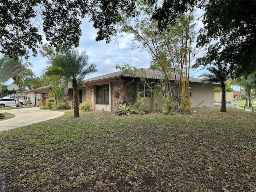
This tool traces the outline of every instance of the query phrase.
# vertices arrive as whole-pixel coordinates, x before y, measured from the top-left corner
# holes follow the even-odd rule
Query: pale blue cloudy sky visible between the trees
[[[202,16],[202,10],[197,10],[197,16]],[[202,19],[199,20],[198,26],[195,28],[195,31],[198,31],[203,27]],[[132,35],[126,34],[118,34],[117,37],[114,37],[112,42],[106,44],[105,40],[96,42],[96,34],[97,30],[93,28],[92,23],[88,22],[87,18],[82,20],[82,36],[80,37],[80,44],[76,48],[80,52],[86,50],[86,54],[88,54],[88,62],[89,64],[96,64],[96,68],[98,72],[88,74],[86,79],[93,78],[96,76],[101,76],[104,74],[109,74],[112,72],[118,71],[116,69],[116,64],[129,64],[130,66],[135,66],[136,68],[149,68],[151,58],[148,52],[140,51],[138,49],[132,49]],[[121,36],[123,35],[123,36]],[[43,36],[43,44],[47,43],[45,37]],[[40,48],[37,49],[38,53]],[[199,53],[200,54],[200,53]],[[0,54],[0,57],[3,55]],[[23,62],[26,62],[23,60]],[[33,64],[31,67],[32,72],[39,77],[43,70],[48,66],[47,59],[43,58],[40,54],[36,57],[32,56],[32,52],[30,52],[30,57],[28,62]],[[192,61],[194,64],[195,61]],[[191,64],[191,65],[192,65]],[[199,78],[200,74],[203,72],[207,72],[206,70],[191,70],[190,76]],[[12,82],[7,82],[7,84],[11,84]],[[236,90],[239,90],[236,87]]]

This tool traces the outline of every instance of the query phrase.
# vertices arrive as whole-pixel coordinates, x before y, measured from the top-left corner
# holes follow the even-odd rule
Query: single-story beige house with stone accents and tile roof
[[[160,71],[150,69],[138,69],[144,72],[144,76],[150,82],[154,89],[160,89],[156,86],[164,75]],[[174,83],[174,79],[171,80]],[[190,86],[190,105],[192,108],[197,106],[214,107],[213,88],[219,87],[219,84],[208,84],[203,86],[198,78],[189,79]],[[86,100],[92,105],[92,110],[113,111],[118,105],[116,93],[125,92],[127,100],[130,103],[135,102],[138,92],[142,92],[142,98],[146,98],[149,104],[146,110],[159,110],[159,105],[155,103],[159,98],[154,97],[148,86],[140,80],[137,75],[127,74],[124,71],[118,71],[84,81],[86,87]],[[176,90],[176,89],[175,89]],[[180,89],[181,92],[181,89]]]

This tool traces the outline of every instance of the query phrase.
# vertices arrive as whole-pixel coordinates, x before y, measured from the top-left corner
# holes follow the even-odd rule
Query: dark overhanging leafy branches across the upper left
[[[65,42],[65,50],[77,47],[82,35],[80,25],[87,16],[94,22],[94,28],[98,29],[96,41],[105,39],[110,42],[117,32],[116,24],[121,20],[120,14],[125,11],[128,16],[134,15],[135,6],[134,0],[115,1],[110,4],[98,0],[1,1],[1,17],[5,18],[1,21],[1,53],[28,59],[29,51],[32,50],[33,56],[36,56],[37,48],[42,44],[42,34],[54,47],[62,42]],[[38,31],[40,24],[43,32]]]

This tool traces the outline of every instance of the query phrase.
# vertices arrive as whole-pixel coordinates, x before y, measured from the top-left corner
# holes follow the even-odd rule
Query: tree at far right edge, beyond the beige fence
[[[250,75],[247,78],[245,78],[244,76],[236,79],[236,80],[231,80],[230,83],[233,85],[238,85],[244,88],[245,90],[245,94],[246,94],[246,101],[245,101],[245,106],[252,106],[252,101],[251,101],[251,90],[252,88],[255,87],[255,82],[256,82],[256,77],[255,75]]]

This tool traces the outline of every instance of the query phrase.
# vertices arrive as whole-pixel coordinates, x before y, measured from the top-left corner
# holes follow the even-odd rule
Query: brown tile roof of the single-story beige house
[[[156,70],[152,70],[152,69],[146,69],[146,68],[139,68],[139,69],[137,69],[137,71],[135,71],[134,74],[129,74],[129,73],[126,73],[124,70],[122,70],[122,71],[118,71],[118,72],[114,72],[114,73],[110,73],[110,74],[90,78],[90,79],[85,80],[84,82],[94,82],[94,81],[100,81],[100,80],[106,80],[106,79],[112,79],[112,78],[118,78],[118,77],[140,78],[141,77],[139,75],[140,73],[142,73],[143,76],[145,76],[148,79],[160,80],[160,79],[164,78],[164,74],[162,74],[162,72],[160,72],[160,71],[156,71]],[[180,80],[180,76],[178,76],[176,78],[177,78],[177,80]],[[172,78],[170,78],[170,80],[174,81],[175,78],[172,77]],[[190,82],[196,82],[196,83],[201,82],[200,79],[193,78],[193,77],[190,77],[189,81]]]

